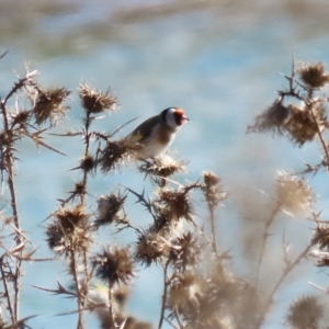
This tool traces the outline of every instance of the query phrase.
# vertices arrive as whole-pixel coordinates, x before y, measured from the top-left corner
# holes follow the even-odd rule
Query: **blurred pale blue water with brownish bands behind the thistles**
[[[72,90],[72,109],[65,127],[79,128],[82,117],[77,97],[79,82],[106,90],[111,87],[121,111],[97,123],[112,132],[138,116],[141,122],[168,106],[185,110],[191,123],[184,126],[172,149],[189,160],[190,174],[197,179],[203,170],[223,178],[229,192],[225,208],[218,213],[218,238],[222,249],[231,249],[234,269],[250,274],[253,237],[260,232],[260,214],[266,214],[268,200],[258,190],[274,193],[277,170],[300,171],[303,161],[318,163],[317,144],[303,148],[270,135],[246,135],[247,125],[275,99],[275,90],[286,81],[292,58],[329,65],[329,4],[327,0],[1,0],[0,94],[8,93],[15,73],[23,75],[24,63],[41,72],[45,87],[65,86]],[[129,133],[135,123],[118,134]],[[43,220],[71,191],[79,174],[77,167],[83,144],[78,139],[49,136],[48,141],[68,157],[60,157],[32,144],[22,145],[18,164],[20,212],[23,227],[38,241],[38,257],[49,256]],[[79,146],[79,147],[77,147]],[[328,177],[310,177],[319,194],[317,211],[327,212]],[[143,178],[129,169],[118,175],[100,175],[91,182],[95,197],[118,185],[141,191]],[[144,209],[129,214],[138,225],[150,218]],[[283,226],[273,227],[274,240],[282,239]],[[284,222],[292,254],[305,248],[314,224],[306,219]],[[113,230],[114,231],[114,230]],[[109,242],[125,243],[128,234],[103,237]],[[272,268],[282,268],[280,243],[270,243],[268,283]],[[42,273],[41,273],[41,269]],[[67,284],[60,262],[31,263],[25,266],[22,317],[33,328],[73,328],[76,315],[54,315],[75,309],[72,300],[52,296],[32,285],[55,288],[56,280]],[[284,328],[284,311],[300,294],[318,294],[309,281],[327,286],[326,273],[319,273],[308,260],[290,275],[284,290],[275,296],[275,308],[264,328]],[[161,270],[140,271],[134,281],[128,311],[154,324],[159,317]],[[276,272],[277,273],[277,272]],[[97,326],[89,319],[91,326]],[[97,327],[93,327],[97,328]],[[170,328],[168,324],[164,328]]]

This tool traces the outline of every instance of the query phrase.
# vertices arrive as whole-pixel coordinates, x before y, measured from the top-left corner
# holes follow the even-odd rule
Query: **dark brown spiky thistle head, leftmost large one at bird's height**
[[[33,107],[35,123],[42,123],[50,120],[52,125],[56,125],[63,117],[69,106],[64,102],[68,99],[70,91],[65,88],[54,88],[46,91],[38,90],[37,98]]]

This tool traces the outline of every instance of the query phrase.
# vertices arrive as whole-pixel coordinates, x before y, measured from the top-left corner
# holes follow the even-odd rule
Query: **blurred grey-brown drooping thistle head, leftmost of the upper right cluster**
[[[288,117],[290,110],[283,105],[283,98],[280,97],[272,106],[256,117],[254,124],[248,126],[247,133],[273,132],[282,134]]]

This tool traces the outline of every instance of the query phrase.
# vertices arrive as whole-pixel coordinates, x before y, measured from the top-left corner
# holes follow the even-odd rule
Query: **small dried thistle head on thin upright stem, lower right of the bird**
[[[214,208],[219,202],[227,197],[227,193],[222,190],[220,178],[211,171],[203,172],[204,185],[202,188],[207,204]]]

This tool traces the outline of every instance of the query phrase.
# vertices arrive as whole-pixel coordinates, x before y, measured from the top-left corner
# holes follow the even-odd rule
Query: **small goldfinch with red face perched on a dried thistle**
[[[143,122],[126,138],[138,144],[138,147],[134,148],[137,159],[156,158],[166,151],[173,141],[177,132],[189,121],[184,110],[168,107]]]

